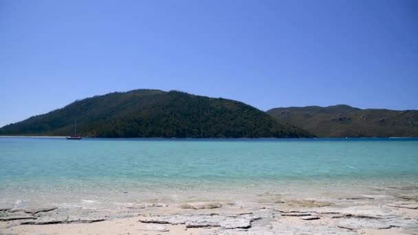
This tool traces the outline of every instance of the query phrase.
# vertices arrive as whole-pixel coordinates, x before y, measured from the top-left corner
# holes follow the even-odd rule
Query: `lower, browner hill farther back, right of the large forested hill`
[[[418,111],[358,109],[348,105],[288,107],[267,111],[318,137],[418,137]]]

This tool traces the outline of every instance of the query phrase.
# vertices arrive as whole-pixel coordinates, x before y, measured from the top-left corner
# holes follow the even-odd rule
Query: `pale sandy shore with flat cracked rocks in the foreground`
[[[418,194],[0,208],[0,234],[418,234]]]

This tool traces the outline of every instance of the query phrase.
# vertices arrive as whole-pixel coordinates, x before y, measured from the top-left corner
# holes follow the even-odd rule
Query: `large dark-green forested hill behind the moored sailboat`
[[[78,100],[0,128],[0,135],[87,137],[311,137],[248,104],[179,91],[134,90]]]

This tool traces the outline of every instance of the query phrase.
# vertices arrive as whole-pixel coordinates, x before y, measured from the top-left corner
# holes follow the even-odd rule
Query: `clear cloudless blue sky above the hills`
[[[418,109],[418,1],[0,1],[0,126],[98,94]]]

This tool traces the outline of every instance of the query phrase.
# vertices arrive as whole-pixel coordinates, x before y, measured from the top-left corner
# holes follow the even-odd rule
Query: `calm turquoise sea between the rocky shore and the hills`
[[[385,197],[418,188],[418,139],[0,137],[0,205]]]

